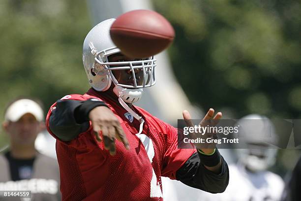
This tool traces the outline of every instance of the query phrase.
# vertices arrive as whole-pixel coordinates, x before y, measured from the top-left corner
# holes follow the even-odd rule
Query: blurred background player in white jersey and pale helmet
[[[240,140],[248,148],[235,150],[238,163],[229,165],[230,180],[226,191],[218,195],[201,193],[199,201],[279,201],[284,182],[279,175],[267,170],[274,165],[277,154],[277,149],[271,145],[277,143],[271,121],[251,114],[237,124],[244,132]],[[264,131],[271,132],[271,137],[265,141],[259,137]]]

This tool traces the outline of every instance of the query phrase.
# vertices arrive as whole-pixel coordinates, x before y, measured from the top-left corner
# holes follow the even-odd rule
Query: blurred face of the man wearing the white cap
[[[42,123],[38,122],[32,114],[27,113],[17,122],[6,122],[3,127],[12,143],[29,145],[34,144],[37,134],[42,129]]]

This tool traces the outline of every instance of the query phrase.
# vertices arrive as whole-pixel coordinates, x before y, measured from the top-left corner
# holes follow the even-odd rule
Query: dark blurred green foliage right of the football
[[[191,101],[233,117],[301,117],[301,3],[155,0],[176,30],[174,72]]]

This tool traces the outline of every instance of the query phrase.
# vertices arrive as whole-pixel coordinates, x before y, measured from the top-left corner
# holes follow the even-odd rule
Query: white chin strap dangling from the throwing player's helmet
[[[143,93],[143,89],[126,89],[120,86],[115,86],[113,91],[118,96],[118,100],[122,107],[140,122],[138,134],[141,134],[143,130],[144,119],[141,116],[139,116],[136,112],[134,112],[134,110],[132,110],[125,102],[133,103],[140,100]]]

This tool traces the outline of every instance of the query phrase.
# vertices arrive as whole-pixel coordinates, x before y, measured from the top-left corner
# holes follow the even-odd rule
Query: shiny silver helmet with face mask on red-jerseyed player
[[[110,27],[115,19],[102,21],[91,29],[84,41],[83,63],[89,84],[96,91],[106,91],[113,82],[119,86],[114,90],[117,96],[125,102],[135,102],[142,96],[142,88],[155,84],[156,60],[153,57],[146,60],[110,62],[108,57],[120,53],[110,37]],[[147,48],[147,47],[146,47]],[[131,83],[119,83],[114,76],[115,70],[131,70]],[[137,83],[135,70],[143,70],[143,80]],[[142,78],[141,78],[142,79]],[[134,97],[132,97],[134,95]]]

